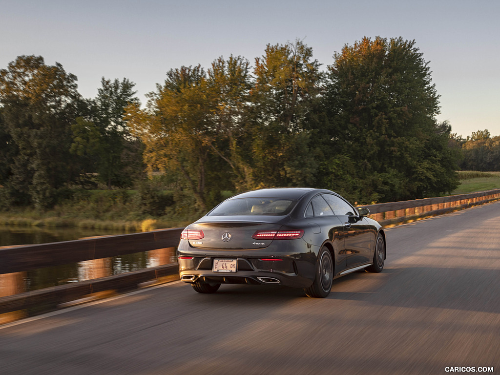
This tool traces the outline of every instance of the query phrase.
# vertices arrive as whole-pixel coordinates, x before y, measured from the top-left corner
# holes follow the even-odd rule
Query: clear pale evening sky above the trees
[[[0,68],[43,56],[78,77],[93,98],[101,77],[125,77],[137,96],[182,65],[218,56],[253,63],[265,46],[302,40],[326,69],[363,36],[415,40],[440,95],[438,121],[470,135],[500,135],[497,0],[0,0]]]

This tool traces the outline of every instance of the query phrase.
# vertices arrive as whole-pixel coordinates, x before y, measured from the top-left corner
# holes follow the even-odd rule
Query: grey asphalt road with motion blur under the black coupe
[[[173,282],[1,326],[0,373],[500,372],[500,202],[386,233],[384,270],[324,299]]]

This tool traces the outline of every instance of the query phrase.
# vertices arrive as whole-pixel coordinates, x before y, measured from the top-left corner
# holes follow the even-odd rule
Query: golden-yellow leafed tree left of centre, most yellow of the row
[[[164,84],[149,93],[146,110],[136,104],[128,107],[128,123],[145,145],[149,173],[179,175],[205,210],[206,186],[217,186],[207,181],[215,130],[206,73],[200,65],[182,66],[166,76]]]

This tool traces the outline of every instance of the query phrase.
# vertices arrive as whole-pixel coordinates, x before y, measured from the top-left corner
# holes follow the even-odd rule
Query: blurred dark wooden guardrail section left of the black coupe
[[[0,248],[0,324],[53,310],[81,298],[88,300],[133,289],[150,280],[178,278],[177,264],[168,258],[174,254],[182,229]],[[25,271],[30,269],[86,260],[98,263],[111,256],[151,250],[159,251],[162,265],[105,277],[99,277],[100,272],[96,272],[97,276],[93,277],[98,278],[38,290],[24,291],[19,286],[23,285]]]

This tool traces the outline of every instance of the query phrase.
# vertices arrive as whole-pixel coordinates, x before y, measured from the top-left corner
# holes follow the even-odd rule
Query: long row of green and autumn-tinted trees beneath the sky
[[[0,208],[116,187],[174,191],[179,211],[271,186],[395,201],[453,190],[459,163],[498,169],[499,137],[436,122],[414,40],[364,37],[320,65],[300,40],[268,44],[253,63],[170,69],[141,106],[127,78],[85,99],[59,63],[18,56],[0,70]]]

